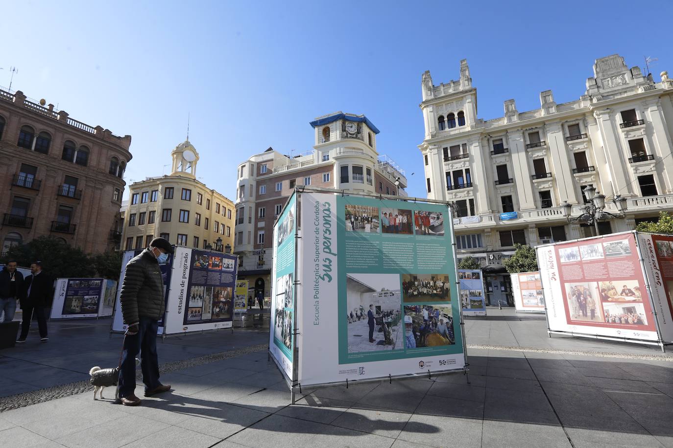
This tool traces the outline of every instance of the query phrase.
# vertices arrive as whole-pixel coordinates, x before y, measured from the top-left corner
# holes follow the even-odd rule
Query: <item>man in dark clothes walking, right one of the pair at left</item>
[[[49,338],[46,335],[46,313],[51,306],[51,300],[54,296],[52,280],[42,272],[42,261],[36,261],[30,265],[31,275],[26,277],[19,302],[24,311],[24,318],[21,324],[21,335],[16,340],[17,343],[26,342],[28,330],[30,330],[30,321],[33,315],[38,320],[40,328],[40,341],[46,343]]]

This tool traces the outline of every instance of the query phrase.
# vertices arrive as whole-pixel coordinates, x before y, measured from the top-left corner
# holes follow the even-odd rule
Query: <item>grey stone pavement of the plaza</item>
[[[488,312],[466,320],[468,344],[500,347],[468,348],[470,384],[455,374],[305,388],[290,405],[281,374],[262,350],[165,373],[172,392],[138,408],[112,404],[110,388],[108,400],[94,401],[89,390],[1,412],[0,446],[673,447],[673,357],[656,348],[549,339],[544,316]],[[265,336],[248,332],[168,338],[159,345],[160,361]],[[22,349],[40,365],[41,351],[53,355],[52,348],[46,353],[52,343],[64,345],[71,361],[77,358],[71,346],[84,344],[83,367],[103,356],[88,337],[67,344],[60,337]],[[0,381],[17,379],[11,367],[17,350],[9,361],[0,358]]]

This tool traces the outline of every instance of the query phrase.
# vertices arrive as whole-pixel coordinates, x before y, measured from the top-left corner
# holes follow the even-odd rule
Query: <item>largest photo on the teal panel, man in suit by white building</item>
[[[404,349],[399,288],[398,274],[346,274],[348,353]]]

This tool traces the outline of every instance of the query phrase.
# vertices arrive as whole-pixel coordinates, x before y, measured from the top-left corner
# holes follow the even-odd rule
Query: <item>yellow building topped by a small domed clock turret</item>
[[[121,249],[143,249],[162,237],[178,246],[232,251],[234,202],[197,180],[199,153],[188,140],[171,156],[170,175],[130,185]]]

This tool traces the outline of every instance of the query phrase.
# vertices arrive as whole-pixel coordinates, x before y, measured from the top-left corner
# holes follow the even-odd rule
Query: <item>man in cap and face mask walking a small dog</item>
[[[139,405],[135,396],[135,357],[141,352],[145,396],[170,390],[159,382],[157,327],[164,317],[164,279],[160,264],[168,261],[173,248],[164,238],[154,238],[149,247],[131,259],[126,267],[120,302],[128,325],[119,371],[119,398],[126,406]]]

